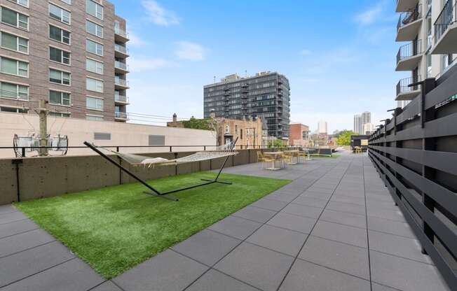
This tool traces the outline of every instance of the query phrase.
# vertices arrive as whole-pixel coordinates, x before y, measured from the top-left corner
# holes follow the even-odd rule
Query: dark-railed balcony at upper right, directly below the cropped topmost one
[[[397,23],[397,38],[395,41],[414,41],[422,24],[422,6],[402,13]]]

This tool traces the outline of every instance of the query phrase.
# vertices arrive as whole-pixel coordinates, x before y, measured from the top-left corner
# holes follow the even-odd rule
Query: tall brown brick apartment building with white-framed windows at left
[[[0,0],[0,111],[127,120],[125,20],[104,0]]]

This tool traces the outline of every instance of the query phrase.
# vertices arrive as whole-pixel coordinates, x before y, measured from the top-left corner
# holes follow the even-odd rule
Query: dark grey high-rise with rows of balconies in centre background
[[[233,74],[219,83],[205,85],[203,110],[205,118],[212,110],[216,117],[262,118],[268,136],[288,139],[289,96],[289,80],[280,73],[266,71],[246,78]]]

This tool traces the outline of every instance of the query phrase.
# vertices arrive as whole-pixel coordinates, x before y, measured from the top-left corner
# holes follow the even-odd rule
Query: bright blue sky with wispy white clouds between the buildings
[[[311,130],[353,129],[363,111],[378,125],[396,107],[395,1],[111,2],[130,34],[128,112],[201,118],[214,76],[258,71],[289,79],[291,122]]]

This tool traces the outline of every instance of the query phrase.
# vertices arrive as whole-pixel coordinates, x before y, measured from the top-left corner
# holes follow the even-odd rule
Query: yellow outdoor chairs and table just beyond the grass
[[[257,159],[262,164],[262,169],[276,171],[284,169],[287,164],[299,164],[300,159],[311,160],[309,150],[280,150],[270,152],[257,152]]]

